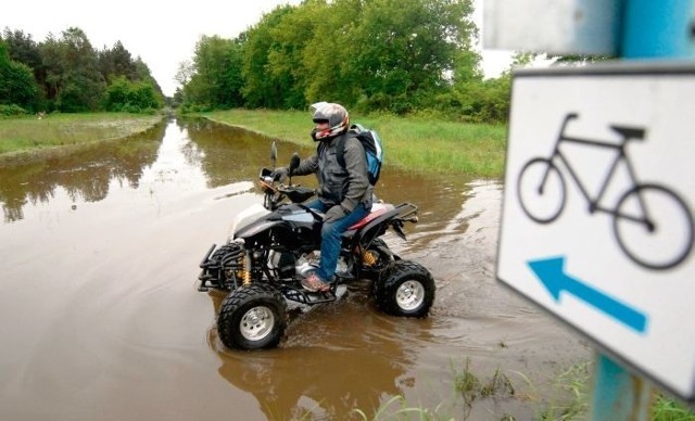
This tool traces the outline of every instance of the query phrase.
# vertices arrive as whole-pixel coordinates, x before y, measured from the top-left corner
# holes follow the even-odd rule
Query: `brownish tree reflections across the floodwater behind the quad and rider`
[[[153,129],[115,142],[102,142],[30,163],[0,167],[0,203],[4,224],[25,217],[27,206],[48,203],[63,191],[70,203],[98,202],[110,190],[167,182],[178,188],[203,183],[206,188],[253,179],[270,165],[271,140],[247,130],[208,120],[163,122]],[[293,152],[303,157],[312,148],[279,143],[278,165]],[[176,180],[175,180],[176,179]],[[173,182],[174,181],[174,182]],[[295,182],[315,186],[313,176]],[[376,189],[379,197],[393,203],[416,202],[425,225],[446,220],[460,209],[462,187],[469,180],[422,177],[388,165]],[[152,187],[148,187],[152,190]]]

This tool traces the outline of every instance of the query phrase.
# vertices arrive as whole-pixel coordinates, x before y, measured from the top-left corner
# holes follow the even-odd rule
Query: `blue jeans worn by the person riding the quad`
[[[315,200],[306,204],[307,207],[326,213],[328,207],[320,200]],[[355,222],[367,216],[369,212],[365,205],[359,203],[355,208],[343,218],[336,219],[321,227],[321,259],[316,275],[324,281],[331,281],[338,266],[338,256],[340,256],[340,245],[343,232]]]

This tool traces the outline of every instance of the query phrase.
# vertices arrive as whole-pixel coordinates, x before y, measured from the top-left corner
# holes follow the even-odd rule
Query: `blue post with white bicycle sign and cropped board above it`
[[[488,48],[627,59],[514,73],[497,278],[596,343],[593,419],[695,399],[695,0],[486,1]]]

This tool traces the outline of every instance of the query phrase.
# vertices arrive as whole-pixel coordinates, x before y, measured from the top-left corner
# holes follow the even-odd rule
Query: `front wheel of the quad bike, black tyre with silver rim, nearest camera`
[[[273,348],[285,333],[286,312],[287,303],[276,289],[263,284],[241,286],[223,301],[217,334],[229,348]]]

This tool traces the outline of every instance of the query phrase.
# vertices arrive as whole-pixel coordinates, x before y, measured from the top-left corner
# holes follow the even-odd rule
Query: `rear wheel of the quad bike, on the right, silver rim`
[[[434,279],[424,266],[395,260],[375,293],[377,306],[386,314],[425,317],[434,302]]]

